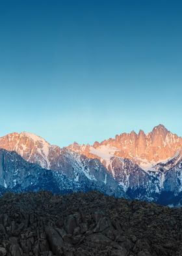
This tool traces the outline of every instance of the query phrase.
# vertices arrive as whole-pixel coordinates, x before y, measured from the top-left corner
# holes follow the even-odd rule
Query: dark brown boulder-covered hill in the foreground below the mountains
[[[182,210],[98,192],[0,199],[0,256],[179,256]]]

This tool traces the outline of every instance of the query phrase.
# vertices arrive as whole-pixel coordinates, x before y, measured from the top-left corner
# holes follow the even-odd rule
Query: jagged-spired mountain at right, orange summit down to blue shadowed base
[[[154,127],[147,135],[140,130],[138,135],[123,133],[101,143],[95,142],[93,146],[75,142],[69,148],[87,157],[98,158],[131,198],[167,203],[161,195],[169,191],[169,184],[173,184],[170,193],[175,190],[175,195],[182,189],[179,175],[182,138],[170,133],[163,125]],[[178,175],[172,176],[169,183],[168,177],[174,170],[178,170]]]

